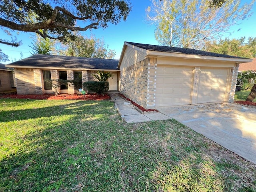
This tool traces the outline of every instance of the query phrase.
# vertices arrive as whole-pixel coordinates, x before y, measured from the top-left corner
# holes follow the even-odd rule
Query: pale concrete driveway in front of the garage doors
[[[157,110],[256,164],[255,108],[227,103]]]

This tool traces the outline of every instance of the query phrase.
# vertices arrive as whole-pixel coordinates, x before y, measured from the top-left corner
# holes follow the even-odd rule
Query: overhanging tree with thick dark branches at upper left
[[[126,20],[130,10],[129,0],[1,0],[0,26],[2,30],[33,32],[43,38],[65,40],[72,31],[118,24]],[[0,39],[0,43],[19,46],[15,41]]]

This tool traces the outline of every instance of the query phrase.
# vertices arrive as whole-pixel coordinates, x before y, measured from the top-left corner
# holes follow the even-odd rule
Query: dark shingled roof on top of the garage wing
[[[142,49],[149,50],[149,51],[242,59],[242,57],[212,53],[212,52],[207,52],[207,51],[200,51],[200,50],[196,50],[196,49],[177,48],[177,47],[168,47],[168,46],[159,46],[159,45],[148,45],[148,44],[140,44],[140,43],[132,43],[132,42],[126,42],[126,43],[134,45],[134,46],[142,48]],[[245,58],[243,58],[243,59],[245,59]]]

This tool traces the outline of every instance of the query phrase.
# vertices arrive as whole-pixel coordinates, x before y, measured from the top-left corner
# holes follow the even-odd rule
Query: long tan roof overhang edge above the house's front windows
[[[86,71],[120,71],[120,69],[91,69],[91,68],[64,68],[64,67],[35,67],[35,66],[19,66],[19,65],[9,65],[12,68],[29,68],[29,69],[56,69],[56,70],[86,70]]]

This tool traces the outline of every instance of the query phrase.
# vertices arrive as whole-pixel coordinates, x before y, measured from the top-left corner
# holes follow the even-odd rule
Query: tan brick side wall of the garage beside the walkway
[[[134,65],[122,68],[120,93],[146,109],[155,105],[156,58],[146,58]]]

